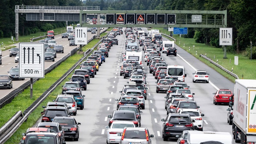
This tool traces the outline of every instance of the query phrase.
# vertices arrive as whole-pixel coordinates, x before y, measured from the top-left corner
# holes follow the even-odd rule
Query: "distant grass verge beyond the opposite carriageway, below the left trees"
[[[55,32],[55,34],[57,35],[58,33],[62,33],[64,32],[66,27],[63,27],[63,28],[56,28],[56,29],[53,29],[53,31]],[[3,45],[1,45],[1,50],[4,51],[6,49],[9,49],[9,48],[12,48],[12,47],[15,47],[13,44],[14,43],[19,43],[19,42],[30,42],[30,39],[33,39],[33,37],[39,37],[39,36],[43,36],[43,35],[46,35],[47,32],[37,32],[37,33],[33,33],[31,35],[27,35],[27,36],[19,36],[19,41],[15,41],[15,36],[13,36],[13,40],[11,39],[11,37],[7,37],[7,38],[2,38],[0,39],[0,43]],[[44,39],[44,38],[43,38]],[[39,39],[37,39],[39,40]],[[4,48],[5,46],[5,48]]]

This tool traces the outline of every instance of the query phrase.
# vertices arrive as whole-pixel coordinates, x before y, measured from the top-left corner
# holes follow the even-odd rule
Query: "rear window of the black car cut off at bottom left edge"
[[[28,144],[55,144],[56,143],[54,136],[45,136],[45,135],[28,136],[26,137],[26,141]]]

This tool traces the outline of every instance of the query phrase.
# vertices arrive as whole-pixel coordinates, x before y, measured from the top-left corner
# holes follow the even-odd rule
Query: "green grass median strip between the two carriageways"
[[[99,40],[95,39],[90,41],[88,45],[83,47],[83,50],[86,51],[89,48],[92,48]],[[92,46],[91,46],[92,45]],[[56,80],[58,80],[65,72],[68,71],[72,65],[76,63],[83,55],[73,55],[61,63],[57,68],[52,72],[45,75],[44,79],[40,79],[33,84],[33,99],[30,99],[30,89],[25,89],[24,92],[19,94],[12,100],[12,103],[5,105],[0,109],[0,127],[3,126],[18,110],[24,111],[29,105],[33,103],[39,96],[42,95]],[[79,66],[77,67],[79,68]],[[21,125],[19,129],[8,139],[5,144],[14,144],[19,143],[21,140],[21,133],[24,133],[29,127],[32,127],[36,121],[41,117],[40,112],[43,111],[42,106],[47,105],[48,101],[56,99],[56,96],[61,93],[62,85],[65,84],[65,81],[69,81],[70,74],[56,89],[31,113],[27,121]]]

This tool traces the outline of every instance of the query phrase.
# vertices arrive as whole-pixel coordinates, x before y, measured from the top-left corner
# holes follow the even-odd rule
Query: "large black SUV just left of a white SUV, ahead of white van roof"
[[[163,123],[163,139],[167,141],[168,138],[177,138],[183,131],[194,130],[194,125],[188,114],[169,113],[165,119],[161,119]]]

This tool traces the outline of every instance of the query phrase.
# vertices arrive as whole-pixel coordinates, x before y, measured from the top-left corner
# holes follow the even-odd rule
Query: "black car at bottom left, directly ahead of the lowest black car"
[[[62,130],[59,123],[48,123],[48,122],[42,123],[41,122],[41,123],[38,123],[36,127],[51,129],[52,133],[57,133],[57,135],[59,136],[60,144],[66,144],[65,137],[64,137],[65,134],[64,134],[64,131]],[[46,133],[43,133],[43,134],[46,134]],[[26,139],[28,139],[28,136],[26,137]],[[32,144],[32,143],[29,143],[29,144]],[[33,144],[36,144],[36,143],[33,143]],[[53,143],[53,144],[55,144],[55,143]]]

